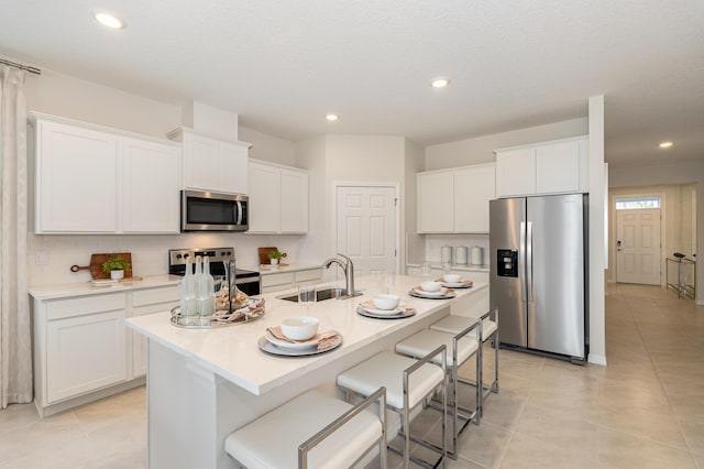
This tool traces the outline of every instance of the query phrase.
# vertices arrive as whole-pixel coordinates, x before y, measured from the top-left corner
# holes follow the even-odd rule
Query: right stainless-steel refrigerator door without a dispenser
[[[585,355],[583,197],[527,199],[528,347],[575,358]]]

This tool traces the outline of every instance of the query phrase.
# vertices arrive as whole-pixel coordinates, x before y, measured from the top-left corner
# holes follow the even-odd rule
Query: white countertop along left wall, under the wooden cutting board
[[[157,286],[177,285],[180,277],[177,275],[145,276],[142,280],[114,282],[94,285],[91,282],[66,283],[62,285],[32,286],[30,295],[35,299],[56,299],[70,296],[97,295],[111,292],[125,292],[131,290],[153,288]]]

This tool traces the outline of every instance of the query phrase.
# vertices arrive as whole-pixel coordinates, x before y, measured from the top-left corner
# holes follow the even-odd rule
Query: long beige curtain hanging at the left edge
[[[0,408],[32,401],[24,72],[0,65]]]

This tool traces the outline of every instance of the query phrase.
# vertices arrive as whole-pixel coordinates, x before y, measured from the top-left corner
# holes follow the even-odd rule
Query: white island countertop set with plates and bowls
[[[249,324],[216,329],[186,329],[173,326],[168,312],[129,318],[127,324],[151,340],[194,360],[207,371],[217,373],[255,395],[261,395],[300,379],[306,372],[324,367],[330,360],[348,357],[375,340],[422,320],[453,301],[409,296],[408,291],[422,280],[427,277],[396,275],[386,280],[389,293],[398,293],[402,304],[417,309],[415,316],[406,319],[373,319],[356,313],[356,306],[361,302],[381,293],[381,287],[369,277],[355,279],[356,287],[364,290],[363,296],[342,301],[328,299],[311,305],[309,313],[320,319],[320,330],[336,329],[343,338],[340,348],[311,357],[272,356],[261,351],[257,346],[266,327],[278,326],[286,317],[306,314],[305,306],[277,298],[292,292],[263,295],[266,301],[266,314]],[[319,287],[324,286],[328,285]],[[475,283],[471,288],[458,288],[457,297],[472,295],[487,287],[488,284]]]

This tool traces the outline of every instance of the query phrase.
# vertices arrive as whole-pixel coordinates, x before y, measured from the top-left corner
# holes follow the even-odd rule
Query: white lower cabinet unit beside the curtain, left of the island
[[[168,310],[178,286],[33,302],[34,394],[51,415],[139,385],[146,339],[127,330],[130,316]]]

